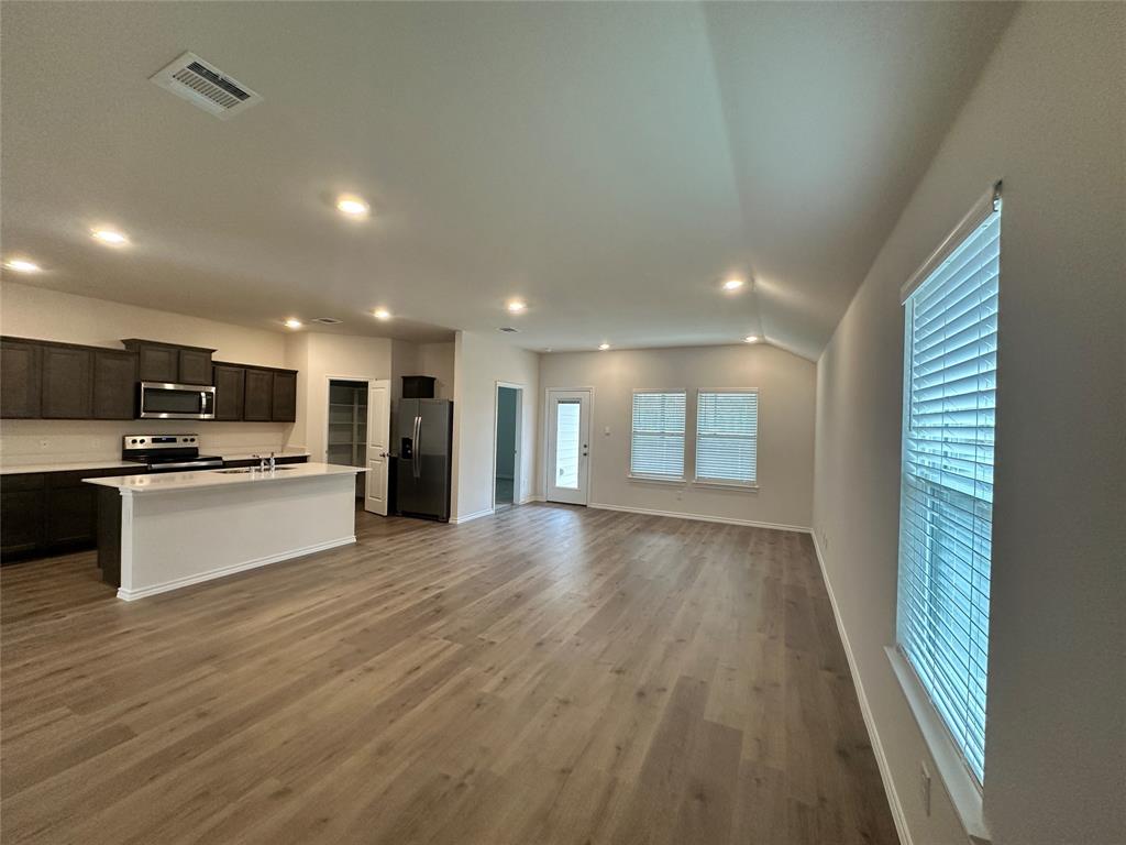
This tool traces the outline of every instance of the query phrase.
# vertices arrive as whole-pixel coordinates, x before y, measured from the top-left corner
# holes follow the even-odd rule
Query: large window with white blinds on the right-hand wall
[[[973,213],[972,213],[973,214]],[[904,302],[897,639],[984,777],[1000,196]]]

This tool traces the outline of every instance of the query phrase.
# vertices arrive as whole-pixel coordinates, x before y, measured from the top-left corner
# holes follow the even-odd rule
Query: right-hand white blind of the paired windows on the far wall
[[[758,481],[759,394],[704,392],[696,401],[696,479],[732,484]]]

